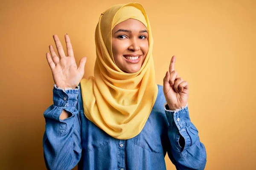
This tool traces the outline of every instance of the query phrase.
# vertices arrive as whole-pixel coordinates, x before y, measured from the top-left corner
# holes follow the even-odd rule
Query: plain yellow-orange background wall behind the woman
[[[53,34],[69,34],[77,64],[93,75],[100,14],[127,0],[0,2],[0,162],[3,170],[44,170],[44,111],[52,105],[46,60]],[[189,114],[207,150],[206,170],[256,169],[256,1],[138,0],[154,38],[156,81],[170,59],[189,83]],[[175,167],[166,156],[168,170]]]

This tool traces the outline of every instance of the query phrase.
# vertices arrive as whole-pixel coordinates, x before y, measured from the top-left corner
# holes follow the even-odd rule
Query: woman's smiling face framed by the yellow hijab
[[[112,52],[116,65],[126,73],[140,70],[148,53],[148,30],[143,23],[128,19],[112,30]]]

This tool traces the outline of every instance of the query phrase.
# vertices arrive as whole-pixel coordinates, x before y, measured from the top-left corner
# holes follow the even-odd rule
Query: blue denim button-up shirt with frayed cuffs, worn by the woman
[[[165,108],[163,86],[143,130],[134,138],[115,139],[84,116],[80,84],[53,88],[53,105],[44,112],[44,160],[49,170],[166,170],[165,156],[177,170],[203,170],[206,150],[189,118],[188,107]],[[168,105],[166,105],[168,107]],[[59,119],[62,110],[70,113]]]

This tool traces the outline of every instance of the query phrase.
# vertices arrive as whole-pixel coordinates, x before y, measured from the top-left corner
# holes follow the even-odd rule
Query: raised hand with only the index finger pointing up
[[[174,70],[176,57],[172,56],[169,71],[163,79],[163,93],[170,110],[182,108],[188,102],[188,82],[178,76]]]

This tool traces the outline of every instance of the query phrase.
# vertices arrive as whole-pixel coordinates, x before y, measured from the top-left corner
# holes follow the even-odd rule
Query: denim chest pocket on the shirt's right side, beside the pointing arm
[[[157,119],[148,117],[143,130],[134,137],[134,144],[143,147],[145,150],[151,153],[163,153],[163,146],[160,138],[160,128],[157,128]]]

